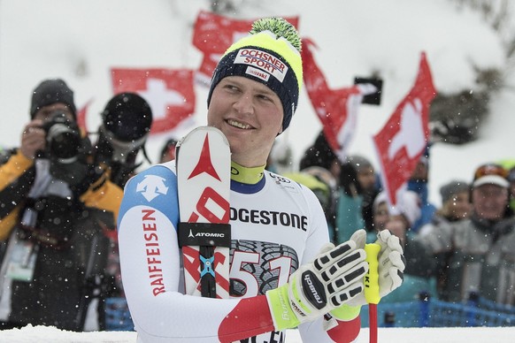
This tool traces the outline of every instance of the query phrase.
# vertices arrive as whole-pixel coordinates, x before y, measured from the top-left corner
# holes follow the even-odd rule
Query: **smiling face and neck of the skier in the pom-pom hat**
[[[228,76],[213,89],[208,126],[227,136],[231,159],[245,167],[266,164],[282,132],[281,99],[272,89],[242,76]]]

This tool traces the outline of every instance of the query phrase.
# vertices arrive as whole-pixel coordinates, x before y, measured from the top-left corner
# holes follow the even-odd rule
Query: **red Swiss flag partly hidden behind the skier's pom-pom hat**
[[[298,17],[284,19],[294,27],[298,26]],[[230,19],[208,11],[198,13],[193,31],[193,45],[204,53],[202,65],[197,71],[200,80],[209,83],[220,57],[233,42],[249,34],[255,20]]]

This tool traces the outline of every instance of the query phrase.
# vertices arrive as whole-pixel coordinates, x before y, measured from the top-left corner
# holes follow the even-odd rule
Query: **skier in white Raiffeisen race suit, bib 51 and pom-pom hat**
[[[234,171],[232,209],[222,213],[231,225],[231,299],[183,294],[182,264],[191,261],[181,263],[178,232],[185,226],[179,223],[188,218],[180,218],[174,161],[127,182],[119,215],[120,262],[140,342],[283,341],[283,331],[296,327],[304,341],[356,339],[357,316],[366,303],[365,231],[334,248],[316,196],[265,171],[273,141],[296,110],[303,80],[300,48],[286,20],[259,19],[213,72],[207,123],[225,133]],[[146,198],[143,182],[162,187]],[[385,295],[400,286],[404,263],[396,237],[384,232],[377,242],[386,263],[379,266]]]

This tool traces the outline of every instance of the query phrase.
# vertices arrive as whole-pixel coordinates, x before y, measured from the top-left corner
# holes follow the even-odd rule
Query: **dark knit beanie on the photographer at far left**
[[[77,110],[73,102],[73,90],[61,79],[43,80],[34,89],[30,104],[30,118],[34,118],[35,113],[42,107],[54,103],[64,103],[72,112],[73,118],[77,118]]]

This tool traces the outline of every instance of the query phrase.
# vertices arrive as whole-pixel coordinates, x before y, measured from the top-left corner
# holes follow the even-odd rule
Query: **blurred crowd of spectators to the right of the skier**
[[[382,192],[370,159],[350,155],[339,161],[323,133],[305,151],[299,169],[327,168],[338,181],[336,210],[328,213],[334,243],[361,228],[369,242],[381,230],[402,241],[404,284],[385,301],[419,299],[424,293],[457,303],[480,296],[515,305],[515,162],[484,161],[463,179],[448,180],[440,187],[442,204],[435,206],[428,201],[429,150],[395,206]]]

